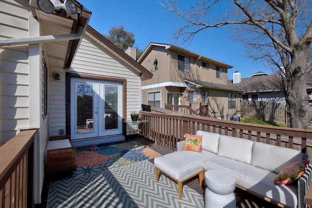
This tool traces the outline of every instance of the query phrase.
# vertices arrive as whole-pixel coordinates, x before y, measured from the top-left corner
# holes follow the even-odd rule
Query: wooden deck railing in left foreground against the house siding
[[[33,206],[34,135],[21,131],[0,147],[0,208]]]

